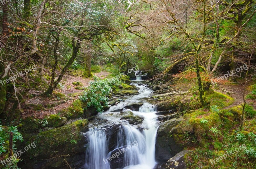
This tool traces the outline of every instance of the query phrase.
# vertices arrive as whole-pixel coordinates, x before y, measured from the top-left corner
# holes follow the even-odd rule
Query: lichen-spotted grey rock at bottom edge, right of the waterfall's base
[[[188,153],[190,153],[191,150],[183,150],[180,151],[179,153],[177,153],[175,156],[173,156],[172,158],[170,158],[166,165],[165,168],[166,169],[183,169],[183,168],[187,168],[186,163],[185,163],[185,159],[184,156]]]

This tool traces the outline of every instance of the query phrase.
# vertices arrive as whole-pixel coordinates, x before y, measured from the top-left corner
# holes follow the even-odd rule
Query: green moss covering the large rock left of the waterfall
[[[49,154],[54,155],[54,151],[58,151],[61,147],[66,147],[66,149],[72,148],[71,141],[79,140],[79,131],[84,126],[88,125],[88,123],[87,119],[78,120],[74,123],[44,131],[31,137],[29,143],[35,142],[36,148],[29,149],[28,156],[36,158],[38,156],[43,157],[44,155]],[[63,152],[63,154],[65,153]]]

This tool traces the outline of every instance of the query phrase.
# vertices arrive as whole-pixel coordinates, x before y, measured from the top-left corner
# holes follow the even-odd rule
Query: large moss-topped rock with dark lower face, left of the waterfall
[[[82,168],[86,151],[84,145],[88,140],[80,132],[88,131],[88,123],[87,119],[77,120],[34,135],[27,144],[34,142],[36,148],[29,149],[21,156],[20,168],[63,168],[65,160],[72,168]],[[65,156],[67,154],[70,156]]]

